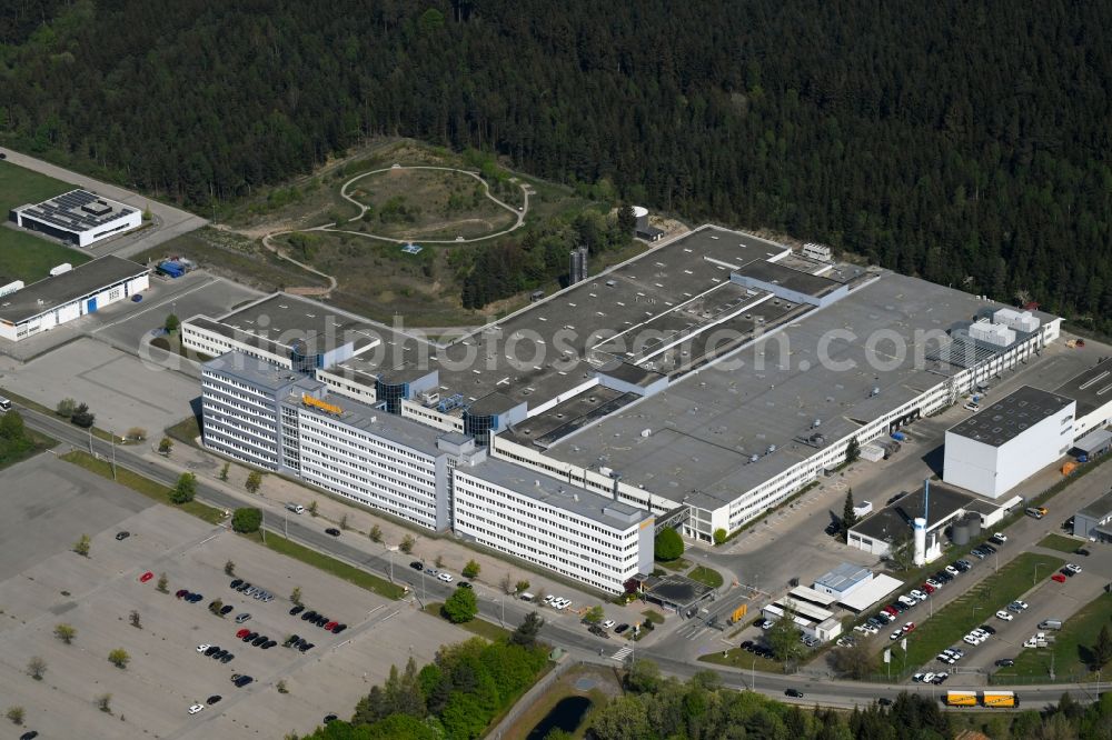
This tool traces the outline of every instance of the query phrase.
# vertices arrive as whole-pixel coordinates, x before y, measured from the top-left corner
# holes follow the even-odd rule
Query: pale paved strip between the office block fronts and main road
[[[614,619],[618,622],[634,622],[641,621],[641,612],[646,608],[641,602],[634,602],[626,607],[609,603],[607,600],[568,587],[555,579],[539,576],[534,571],[526,570],[492,554],[473,550],[456,541],[450,533],[439,537],[423,534],[416,528],[409,529],[386,517],[377,517],[358,504],[348,506],[330,496],[318,493],[281,476],[264,474],[259,492],[257,494],[248,493],[245,489],[245,483],[248,473],[252,469],[188,444],[176,443],[169,460],[149,448],[143,450],[142,454],[156,464],[172,468],[177,471],[186,469],[197,474],[206,484],[219,488],[230,496],[241,499],[245,506],[261,508],[266,523],[271,531],[281,531],[281,518],[298,516],[286,510],[285,504],[287,502],[299,503],[306,509],[316,502],[318,516],[312,518],[307,511],[300,514],[301,523],[304,524],[307,523],[307,520],[311,521],[315,519],[319,522],[321,531],[334,526],[344,529],[341,522],[345,522],[346,518],[344,542],[368,554],[384,556],[390,548],[397,548],[406,534],[411,536],[416,540],[413,552],[408,556],[400,551],[395,551],[394,553],[395,581],[409,582],[413,580],[413,577],[416,574],[409,568],[409,562],[413,560],[420,560],[427,567],[437,568],[435,563],[440,558],[444,566],[438,569],[450,572],[457,579],[461,578],[460,571],[467,561],[475,560],[479,564],[479,576],[473,580],[479,586],[476,589],[476,593],[480,599],[485,597],[495,602],[502,598],[512,599],[513,597],[508,597],[502,588],[502,582],[508,574],[510,590],[514,589],[518,580],[527,580],[529,582],[528,590],[532,593],[543,591],[544,593],[560,594],[575,602],[573,607],[576,611],[565,610],[564,612],[557,612],[540,607],[540,611],[546,620],[556,619],[567,621],[568,624],[572,624],[578,621],[578,610],[586,610],[596,603],[602,603],[608,619]],[[228,480],[221,481],[220,471],[226,462],[229,463]],[[383,533],[381,542],[373,541],[369,536],[371,528],[376,524]],[[418,578],[418,587],[419,580]]]

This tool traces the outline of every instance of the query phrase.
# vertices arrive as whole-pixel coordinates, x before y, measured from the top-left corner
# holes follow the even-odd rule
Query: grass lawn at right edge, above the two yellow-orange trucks
[[[1025,676],[1050,680],[1051,657],[1058,680],[1074,680],[1089,674],[1090,649],[1096,642],[1101,627],[1112,617],[1112,593],[1102,593],[1086,603],[1073,617],[1062,622],[1062,629],[1052,632],[1054,642],[1048,648],[1029,648],[1015,658],[1014,668],[1004,668],[996,677]],[[1112,624],[1110,624],[1112,628]]]

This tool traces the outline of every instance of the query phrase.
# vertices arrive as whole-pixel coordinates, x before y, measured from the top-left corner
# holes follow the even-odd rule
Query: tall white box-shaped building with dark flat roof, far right
[[[946,431],[943,480],[997,499],[1073,447],[1073,399],[1024,386]]]

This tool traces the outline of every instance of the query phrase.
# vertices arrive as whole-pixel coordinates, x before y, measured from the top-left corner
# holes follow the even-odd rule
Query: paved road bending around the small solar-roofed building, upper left
[[[132,208],[150,210],[155,221],[153,227],[93,244],[89,251],[95,252],[97,257],[103,254],[116,254],[118,257],[138,254],[143,250],[157,247],[162,242],[169,241],[175,237],[180,237],[183,233],[189,233],[208,223],[208,221],[199,216],[172,206],[167,206],[166,203],[160,203],[147,196],[125,190],[119,186],[95,180],[80,172],[67,170],[57,164],[36,159],[34,157],[28,157],[12,149],[4,149],[3,151],[8,156],[8,161],[12,164],[18,164],[19,167],[40,172],[63,182],[72,182],[75,186],[92,190],[112,200],[127,203]]]

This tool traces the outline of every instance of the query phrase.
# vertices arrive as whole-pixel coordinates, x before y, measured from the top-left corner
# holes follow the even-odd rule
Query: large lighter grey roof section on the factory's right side
[[[765,334],[736,356],[741,364],[731,358],[688,374],[548,454],[608,467],[624,482],[672,500],[687,497],[705,508],[734,501],[820,451],[804,438],[821,431],[841,439],[955,372],[943,362],[917,362],[912,348],[922,332],[935,333],[921,351],[949,341],[945,331],[967,323],[985,302],[916,278],[873,274],[836,303]],[[888,340],[866,347],[882,331],[900,337],[907,354],[894,354]]]

